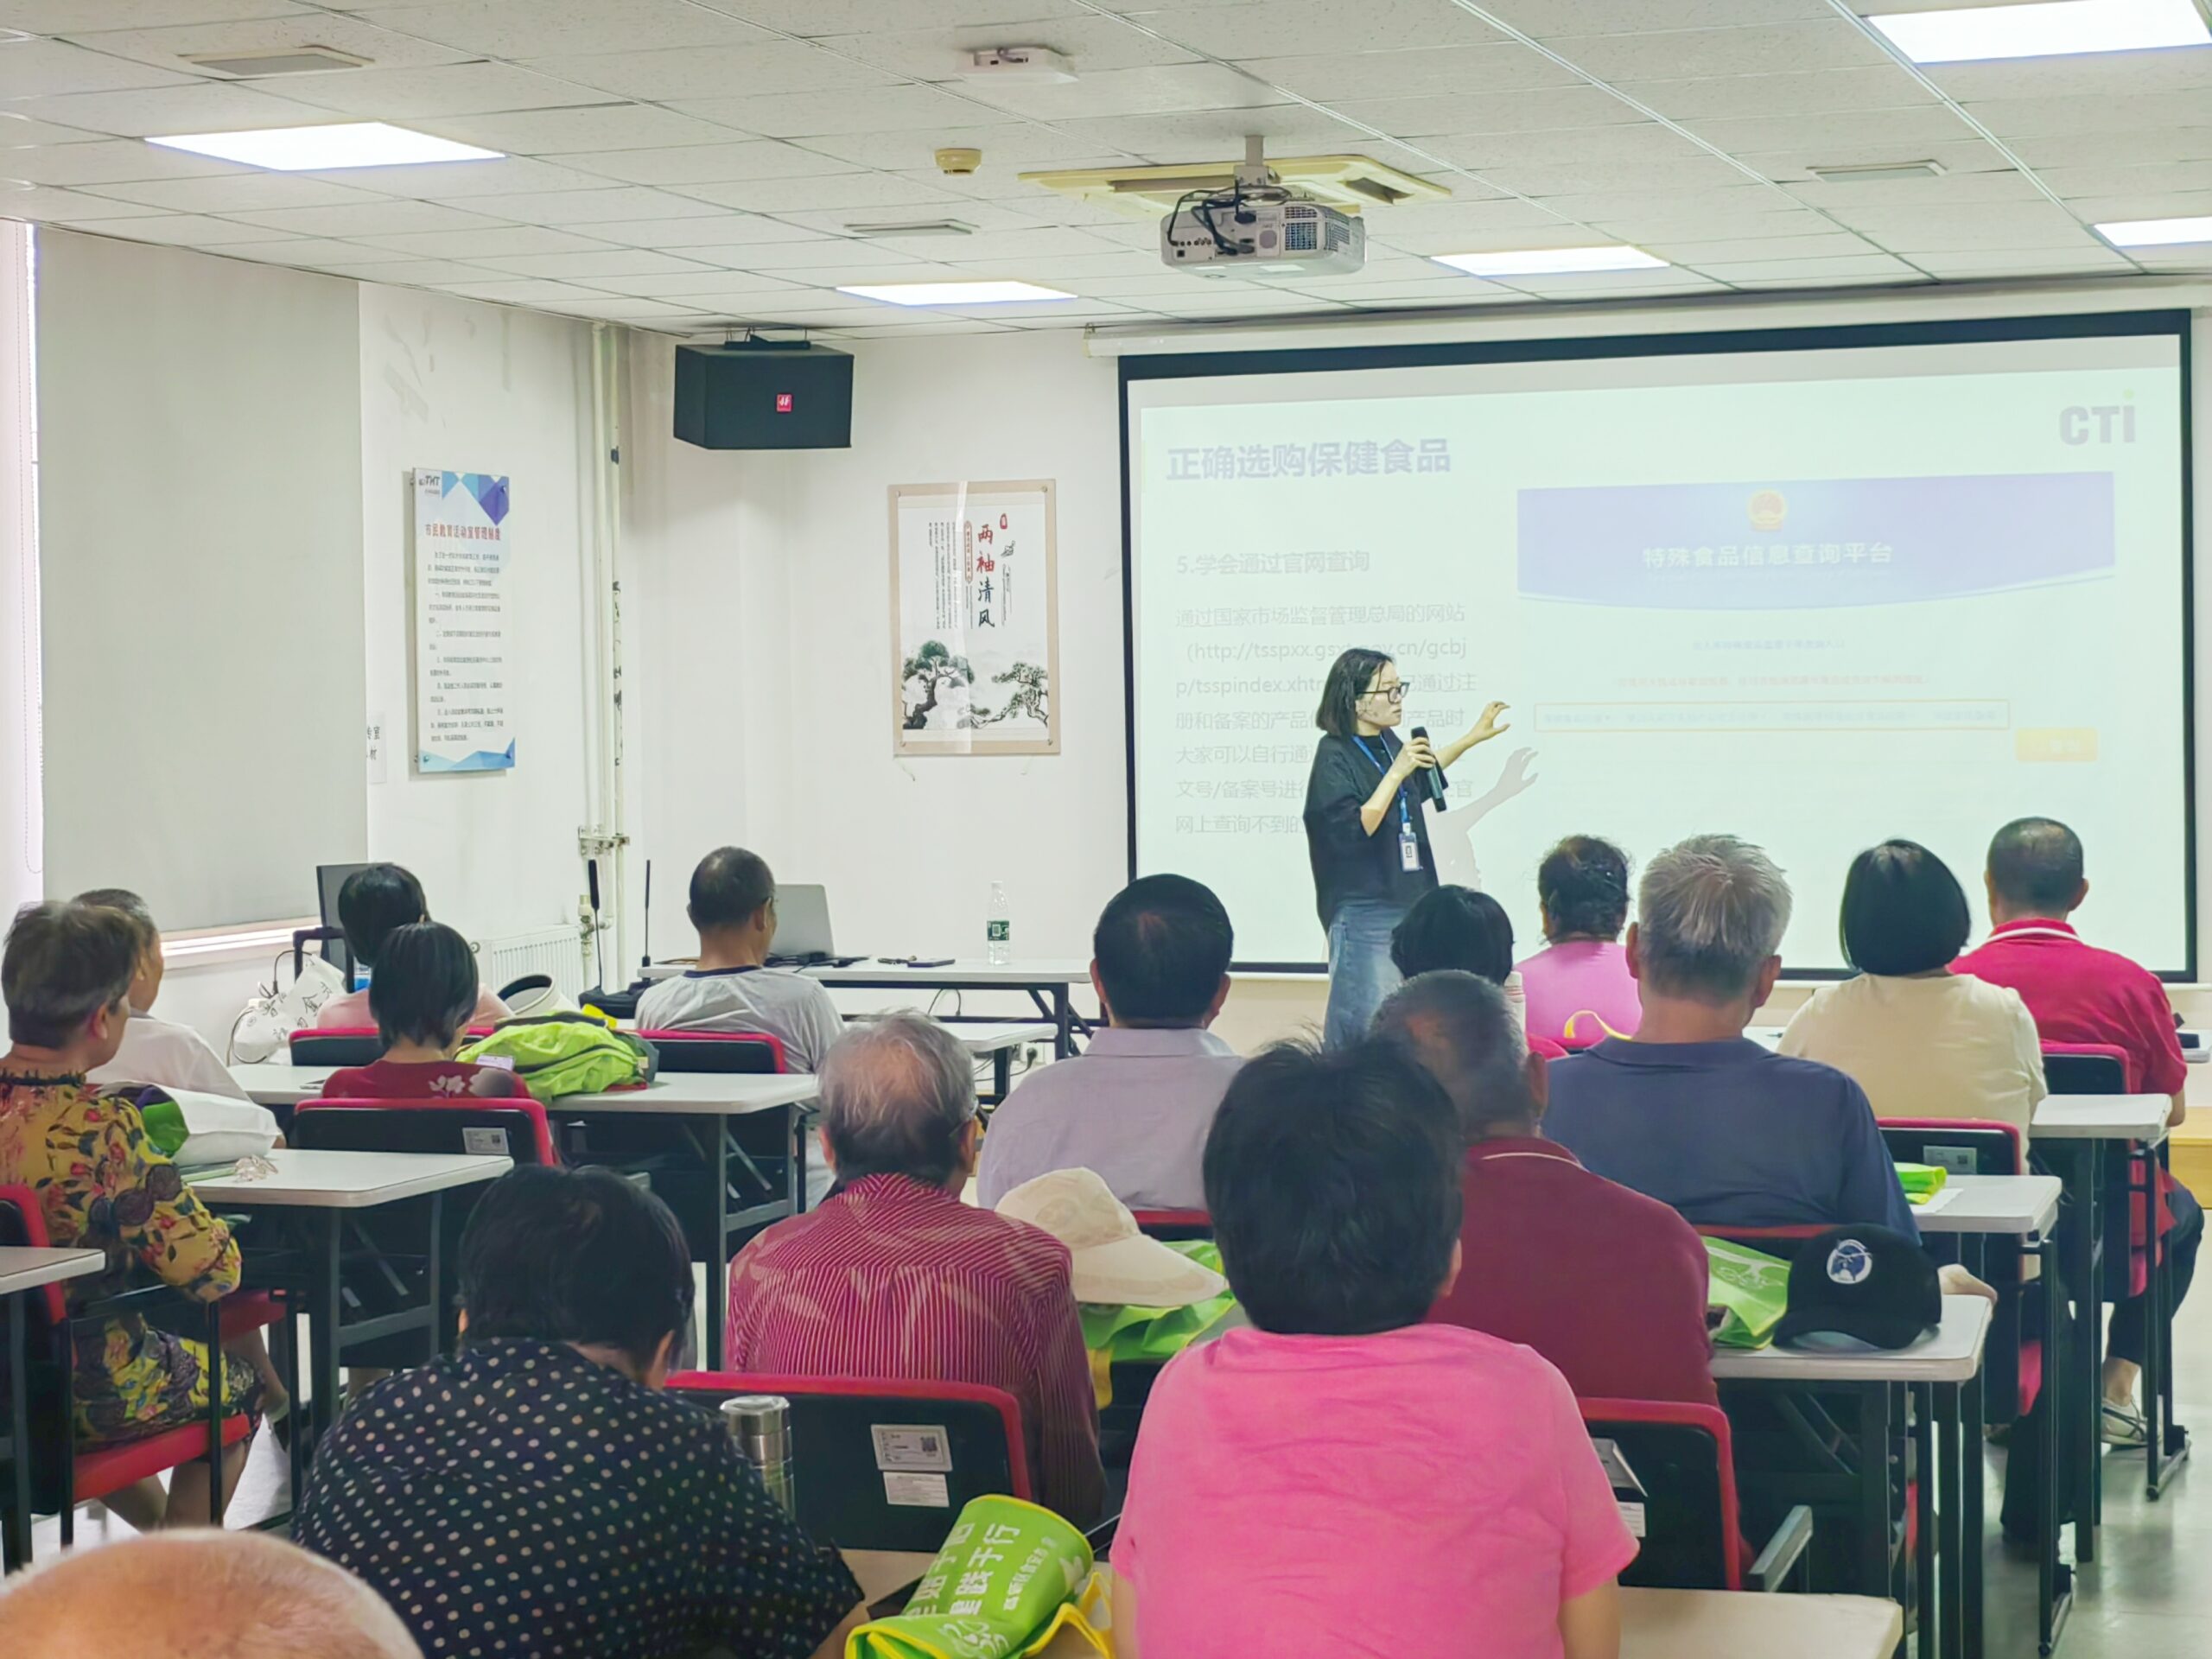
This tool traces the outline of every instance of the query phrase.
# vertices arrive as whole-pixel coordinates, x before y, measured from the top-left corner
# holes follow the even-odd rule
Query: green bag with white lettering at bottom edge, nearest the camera
[[[845,1659],[1015,1659],[1062,1628],[1113,1659],[1091,1624],[1099,1599],[1079,1531],[1020,1498],[975,1498],[905,1613],[854,1630]]]

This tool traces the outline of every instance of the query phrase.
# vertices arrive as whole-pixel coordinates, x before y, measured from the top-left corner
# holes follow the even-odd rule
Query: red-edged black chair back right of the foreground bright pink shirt
[[[1679,1400],[1579,1400],[1582,1427],[1610,1440],[1644,1484],[1644,1546],[1621,1584],[1741,1590],[1743,1520],[1728,1418]]]

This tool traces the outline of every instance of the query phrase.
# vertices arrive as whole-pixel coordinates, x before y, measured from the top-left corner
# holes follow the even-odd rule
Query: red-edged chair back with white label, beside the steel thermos
[[[799,1524],[818,1544],[929,1553],[971,1498],[1031,1495],[1022,1407],[1004,1389],[679,1371],[668,1378],[668,1391],[708,1411],[734,1394],[781,1394],[792,1402]]]

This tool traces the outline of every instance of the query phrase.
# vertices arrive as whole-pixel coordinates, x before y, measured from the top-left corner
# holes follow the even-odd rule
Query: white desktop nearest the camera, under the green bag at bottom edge
[[[914,1584],[933,1557],[845,1551],[860,1595],[876,1601]],[[1099,1568],[1108,1588],[1113,1568]],[[1896,1601],[1869,1595],[1747,1595],[1730,1590],[1621,1590],[1621,1659],[1889,1659],[1905,1630]],[[1267,1632],[1252,1632],[1265,1652]],[[1062,1630],[1040,1659],[1097,1659]]]

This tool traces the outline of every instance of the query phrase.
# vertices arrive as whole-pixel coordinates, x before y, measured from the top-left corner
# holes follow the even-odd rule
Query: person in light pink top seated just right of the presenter
[[[1528,1035],[1553,1042],[1573,1035],[1582,1046],[1604,1035],[1637,1035],[1644,1009],[1621,949],[1628,854],[1597,836],[1568,836],[1537,865],[1535,896],[1544,911],[1544,949],[1520,964]],[[1568,1020],[1575,1020],[1573,1033]]]

